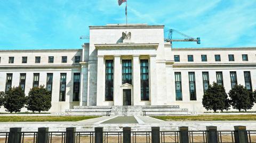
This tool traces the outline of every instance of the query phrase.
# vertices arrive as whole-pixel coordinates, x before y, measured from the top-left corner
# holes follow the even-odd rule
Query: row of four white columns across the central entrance
[[[139,105],[140,101],[140,55],[133,57],[133,105]],[[105,100],[105,64],[104,56],[98,56],[98,73],[97,73],[97,105]],[[121,55],[114,55],[114,105],[122,105],[122,59]],[[149,55],[149,95],[151,105],[157,105],[156,99],[156,55]],[[102,98],[101,98],[102,97]]]

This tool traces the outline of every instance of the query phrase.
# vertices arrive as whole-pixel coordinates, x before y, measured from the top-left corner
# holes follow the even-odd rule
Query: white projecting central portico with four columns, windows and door
[[[94,45],[98,51],[97,105],[151,105],[159,44]]]

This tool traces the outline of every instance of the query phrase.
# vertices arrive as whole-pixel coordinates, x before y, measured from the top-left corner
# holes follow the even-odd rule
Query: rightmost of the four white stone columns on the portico
[[[149,64],[149,98],[151,105],[157,105],[156,55],[150,55]]]

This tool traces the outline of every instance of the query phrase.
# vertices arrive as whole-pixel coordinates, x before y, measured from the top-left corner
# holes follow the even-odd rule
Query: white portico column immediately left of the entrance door
[[[114,55],[114,105],[123,105],[121,97],[122,86],[122,63],[121,56]]]

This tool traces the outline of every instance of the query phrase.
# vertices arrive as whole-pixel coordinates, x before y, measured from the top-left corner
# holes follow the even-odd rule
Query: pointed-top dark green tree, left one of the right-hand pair
[[[207,111],[213,110],[214,112],[217,110],[228,110],[230,107],[225,88],[222,85],[218,85],[216,82],[209,85],[208,89],[205,91],[202,104]]]

